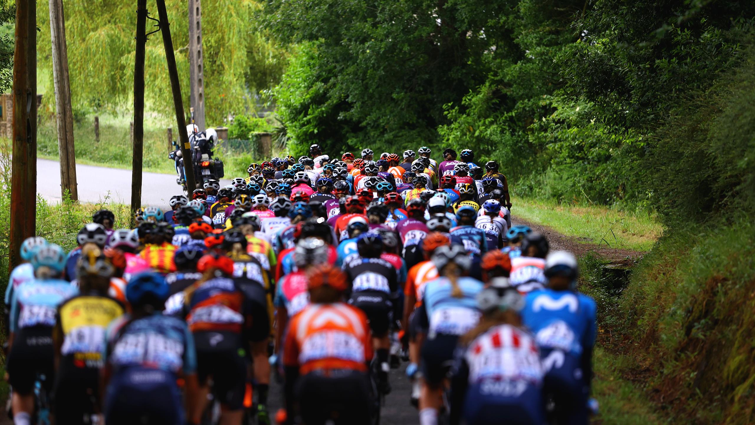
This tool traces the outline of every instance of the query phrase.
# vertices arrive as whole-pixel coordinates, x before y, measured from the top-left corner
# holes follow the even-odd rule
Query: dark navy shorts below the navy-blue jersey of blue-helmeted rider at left
[[[117,371],[107,387],[105,423],[183,425],[174,374],[140,366]]]

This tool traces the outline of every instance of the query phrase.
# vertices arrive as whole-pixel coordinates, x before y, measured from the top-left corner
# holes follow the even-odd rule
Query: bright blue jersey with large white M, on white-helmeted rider
[[[580,355],[595,345],[596,309],[595,301],[583,293],[535,290],[525,297],[522,320],[541,348]]]

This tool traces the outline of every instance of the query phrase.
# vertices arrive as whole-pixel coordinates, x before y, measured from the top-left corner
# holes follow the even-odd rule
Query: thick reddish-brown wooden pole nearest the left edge
[[[13,60],[13,160],[10,261],[36,231],[37,192],[37,10],[35,0],[17,0]]]

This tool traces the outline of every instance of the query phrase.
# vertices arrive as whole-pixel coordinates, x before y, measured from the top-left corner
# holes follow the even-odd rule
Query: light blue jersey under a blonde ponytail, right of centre
[[[424,286],[422,302],[430,321],[430,339],[438,333],[461,336],[475,327],[479,320],[476,296],[482,282],[474,278],[458,279],[461,297],[452,296],[453,286],[448,278],[436,278]]]

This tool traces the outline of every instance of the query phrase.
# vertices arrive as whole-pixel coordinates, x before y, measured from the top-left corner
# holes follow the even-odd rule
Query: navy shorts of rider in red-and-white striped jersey
[[[489,385],[489,384],[488,384]],[[467,389],[464,402],[464,420],[468,425],[498,425],[501,417],[514,425],[541,425],[545,423],[541,389],[532,383],[519,396],[495,394],[500,389],[510,387],[492,383],[492,388],[481,388],[479,384]]]

